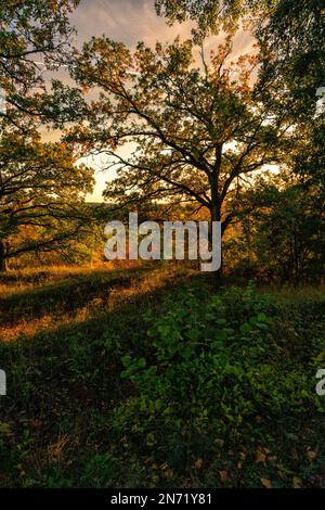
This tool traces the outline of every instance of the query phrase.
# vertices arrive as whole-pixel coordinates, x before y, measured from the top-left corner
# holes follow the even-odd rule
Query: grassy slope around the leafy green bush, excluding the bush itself
[[[2,278],[0,368],[8,396],[0,400],[1,486],[325,486],[324,418],[256,417],[237,443],[220,438],[213,458],[181,457],[159,464],[139,457],[128,438],[112,434],[108,417],[134,393],[120,379],[121,354],[145,356],[151,309],[191,285],[202,299],[205,276],[172,266],[128,270],[57,269]],[[290,356],[309,362],[311,339],[324,330],[325,294],[276,293],[278,335]],[[325,403],[324,403],[325,407]],[[122,444],[125,442],[125,444]]]

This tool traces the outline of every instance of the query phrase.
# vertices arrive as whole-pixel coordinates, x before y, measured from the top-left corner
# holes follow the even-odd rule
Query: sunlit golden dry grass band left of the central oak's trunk
[[[0,286],[0,305],[5,310],[0,311],[0,341],[13,342],[22,335],[52,332],[58,326],[80,324],[172,284],[182,272],[194,273],[174,265],[150,264],[127,264],[125,268],[120,264],[50,266],[10,271],[2,277]],[[58,306],[57,303],[51,306],[52,294],[58,298]]]

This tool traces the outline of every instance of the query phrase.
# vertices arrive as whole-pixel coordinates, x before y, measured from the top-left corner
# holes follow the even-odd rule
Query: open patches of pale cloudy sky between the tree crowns
[[[145,44],[153,47],[156,41],[172,42],[180,35],[182,39],[191,36],[191,22],[182,25],[176,24],[169,27],[165,20],[157,16],[154,0],[81,0],[79,7],[70,15],[70,22],[77,29],[76,46],[92,36],[105,35],[110,39],[126,43],[131,50],[136,42],[142,40]],[[220,37],[212,37],[207,42],[207,49],[213,48],[220,42]],[[251,48],[251,38],[247,33],[240,33],[235,41],[235,53],[242,54]],[[125,148],[121,153],[128,156],[130,149]],[[90,157],[86,163],[94,166],[96,170],[96,184],[92,195],[88,196],[91,202],[102,201],[102,191],[105,181],[112,179],[114,174],[101,170],[105,160],[99,157],[92,161]]]

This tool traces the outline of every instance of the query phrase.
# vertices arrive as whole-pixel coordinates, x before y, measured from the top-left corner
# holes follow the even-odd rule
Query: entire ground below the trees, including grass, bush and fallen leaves
[[[0,278],[0,487],[325,487],[324,288]]]

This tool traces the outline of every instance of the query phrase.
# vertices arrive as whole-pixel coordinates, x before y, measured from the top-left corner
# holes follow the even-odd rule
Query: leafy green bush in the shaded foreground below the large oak
[[[313,374],[277,345],[275,310],[249,285],[207,302],[188,291],[162,317],[147,316],[152,353],[121,358],[136,394],[115,409],[115,433],[181,466],[220,439],[239,441],[257,416],[276,422],[314,407]]]

